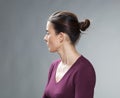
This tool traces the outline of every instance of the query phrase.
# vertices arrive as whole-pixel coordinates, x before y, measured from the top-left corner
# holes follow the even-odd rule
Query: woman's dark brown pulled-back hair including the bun
[[[90,25],[89,19],[79,22],[77,16],[68,11],[55,12],[48,21],[53,24],[56,34],[66,33],[73,45],[80,38],[81,31],[85,31]]]

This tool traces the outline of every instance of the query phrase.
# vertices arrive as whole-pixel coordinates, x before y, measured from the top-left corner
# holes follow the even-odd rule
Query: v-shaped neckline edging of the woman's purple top
[[[55,70],[55,74],[54,74],[54,81],[55,81],[55,84],[59,84],[62,82],[62,80],[66,77],[66,75],[73,69],[73,67],[76,65],[76,63],[78,62],[78,60],[82,57],[82,55],[80,55],[77,60],[73,63],[73,65],[65,72],[65,74],[62,76],[62,78],[57,81],[56,80],[56,73],[57,73],[57,68],[61,62],[61,60],[58,62],[57,66],[56,66],[56,70]]]

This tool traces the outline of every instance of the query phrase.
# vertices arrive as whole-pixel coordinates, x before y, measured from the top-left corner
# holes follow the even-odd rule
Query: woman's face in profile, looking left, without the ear
[[[44,36],[44,40],[47,43],[48,50],[50,52],[56,52],[60,46],[59,34],[55,33],[53,24],[48,21],[46,25],[47,34]]]

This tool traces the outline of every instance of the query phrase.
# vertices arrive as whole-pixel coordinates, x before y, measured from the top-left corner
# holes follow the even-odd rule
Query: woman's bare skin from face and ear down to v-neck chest
[[[53,24],[49,21],[46,25],[46,32],[44,40],[47,43],[48,50],[57,52],[61,58],[56,71],[56,82],[59,82],[81,55],[76,50],[75,45],[71,44],[69,36],[64,32],[56,34]]]

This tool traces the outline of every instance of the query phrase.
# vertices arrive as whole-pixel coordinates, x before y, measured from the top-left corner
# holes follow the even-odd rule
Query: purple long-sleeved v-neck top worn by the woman
[[[42,98],[93,98],[96,76],[92,64],[80,56],[62,79],[56,82],[56,69],[60,61],[51,64]]]

